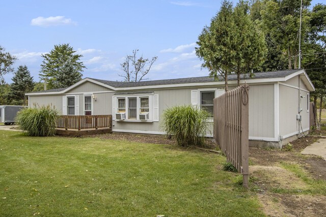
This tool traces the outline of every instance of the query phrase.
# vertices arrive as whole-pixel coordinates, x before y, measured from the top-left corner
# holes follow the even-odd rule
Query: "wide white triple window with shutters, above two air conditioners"
[[[143,114],[147,115],[148,122],[158,121],[158,95],[153,94],[127,94],[112,98],[113,113],[125,113],[126,119],[119,121],[144,122]],[[113,115],[114,120],[116,115]]]

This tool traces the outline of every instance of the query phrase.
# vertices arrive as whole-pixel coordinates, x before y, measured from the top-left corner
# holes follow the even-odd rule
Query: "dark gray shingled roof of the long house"
[[[250,74],[242,74],[240,75],[240,80],[246,79],[263,79],[263,78],[284,78],[292,73],[298,72],[301,69],[295,70],[284,70],[284,71],[274,71],[274,72],[256,72],[254,76],[250,77]],[[224,81],[222,76],[218,76],[219,81]],[[165,79],[165,80],[153,80],[153,81],[140,81],[140,82],[119,82],[119,81],[107,81],[95,78],[89,78],[94,81],[112,86],[112,87],[141,87],[141,86],[152,86],[152,85],[169,85],[169,84],[184,84],[184,83],[207,83],[214,82],[213,77],[205,76],[205,77],[193,77],[193,78],[177,78],[177,79]],[[237,75],[232,74],[228,75],[228,80],[237,80]],[[66,88],[59,89],[49,89],[39,92],[59,92]]]

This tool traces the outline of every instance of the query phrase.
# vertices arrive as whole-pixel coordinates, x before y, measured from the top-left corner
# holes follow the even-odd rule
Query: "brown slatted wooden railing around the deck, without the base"
[[[61,115],[57,119],[57,128],[66,130],[112,128],[112,115]]]

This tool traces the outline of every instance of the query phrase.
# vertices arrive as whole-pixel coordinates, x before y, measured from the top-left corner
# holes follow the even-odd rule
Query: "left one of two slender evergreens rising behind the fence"
[[[228,75],[232,72],[237,55],[234,40],[236,26],[232,3],[223,1],[220,11],[212,18],[210,26],[205,26],[198,37],[197,56],[204,61],[202,67],[209,70],[209,75],[225,79],[228,91]]]

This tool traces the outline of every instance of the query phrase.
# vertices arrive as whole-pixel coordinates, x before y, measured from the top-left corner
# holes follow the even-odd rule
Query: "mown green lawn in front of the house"
[[[0,131],[0,162],[0,216],[264,215],[218,154]]]

